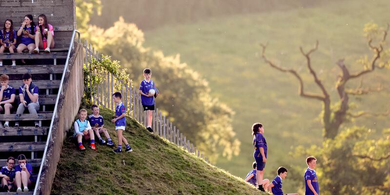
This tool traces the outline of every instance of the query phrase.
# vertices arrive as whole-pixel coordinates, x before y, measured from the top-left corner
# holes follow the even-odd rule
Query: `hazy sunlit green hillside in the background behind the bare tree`
[[[232,161],[220,159],[218,166],[236,176],[245,176],[253,161],[250,128],[260,121],[265,125],[269,143],[266,177],[272,177],[279,166],[293,165],[299,165],[300,169],[289,175],[301,177],[305,160],[297,159],[293,154],[290,156],[289,152],[297,145],[321,143],[322,125],[318,118],[321,104],[298,97],[297,80],[265,64],[259,57],[258,43],[269,42],[269,58],[299,70],[306,81],[306,89],[319,92],[310,83],[312,77],[299,52],[299,46],[308,50],[318,39],[319,49],[312,55],[312,65],[326,87],[331,89],[339,73],[335,65],[337,59],[346,58],[351,70],[362,69],[354,62],[370,54],[362,36],[364,24],[386,25],[390,18],[389,5],[388,0],[331,1],[317,7],[167,25],[146,31],[145,46],[162,50],[165,55],[180,54],[181,61],[187,62],[209,81],[212,94],[233,108],[236,113],[233,126],[242,143],[241,154]],[[383,108],[383,105],[389,105],[388,75],[388,70],[382,70],[364,77],[366,87],[377,86],[370,82],[379,81],[386,90],[365,97],[351,97],[352,102],[360,105],[356,110],[385,112],[388,109]],[[334,103],[336,91],[330,90],[330,93]],[[390,121],[386,117],[366,117],[345,125],[381,130],[388,127]],[[297,186],[302,185],[300,181],[286,182],[284,186],[288,191],[296,191]]]

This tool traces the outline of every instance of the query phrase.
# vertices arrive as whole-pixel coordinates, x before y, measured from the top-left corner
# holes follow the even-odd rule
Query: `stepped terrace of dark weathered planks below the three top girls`
[[[0,121],[10,121],[10,127],[0,128],[0,166],[6,165],[9,156],[17,158],[24,154],[28,163],[33,166],[33,176],[36,178],[46,146],[47,134],[53,116],[54,105],[59,91],[60,79],[68,54],[68,48],[52,49],[52,53],[46,54],[0,54],[3,66],[0,66],[0,75],[10,77],[9,85],[16,89],[16,100],[11,115],[0,115]],[[17,59],[17,66],[10,66],[11,59]],[[18,59],[25,59],[27,65],[20,65]],[[33,83],[39,87],[39,112],[38,114],[17,115],[16,109],[20,103],[19,86],[23,83],[21,76],[24,73],[32,75]],[[20,121],[19,127],[14,127],[14,122]],[[35,127],[34,121],[39,121],[39,127]],[[16,160],[16,165],[18,160]],[[31,186],[28,193],[0,193],[0,195],[25,194],[32,195],[35,186]]]

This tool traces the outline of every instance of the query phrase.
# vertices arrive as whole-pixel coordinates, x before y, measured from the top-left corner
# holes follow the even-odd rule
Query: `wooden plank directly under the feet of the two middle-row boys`
[[[45,136],[49,127],[4,127],[0,136]]]

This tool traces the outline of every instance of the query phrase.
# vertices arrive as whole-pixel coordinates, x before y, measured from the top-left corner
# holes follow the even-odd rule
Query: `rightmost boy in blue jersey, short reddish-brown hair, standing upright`
[[[317,164],[317,159],[313,156],[306,158],[308,168],[305,172],[305,195],[319,195],[318,179],[314,171]]]

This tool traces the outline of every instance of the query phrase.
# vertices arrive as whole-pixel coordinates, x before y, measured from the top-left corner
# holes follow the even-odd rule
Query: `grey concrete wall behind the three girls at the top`
[[[44,14],[54,26],[55,48],[69,47],[72,32],[76,28],[75,0],[0,0],[0,28],[6,19],[11,19],[17,30],[24,16],[33,15],[38,24],[38,16]]]

